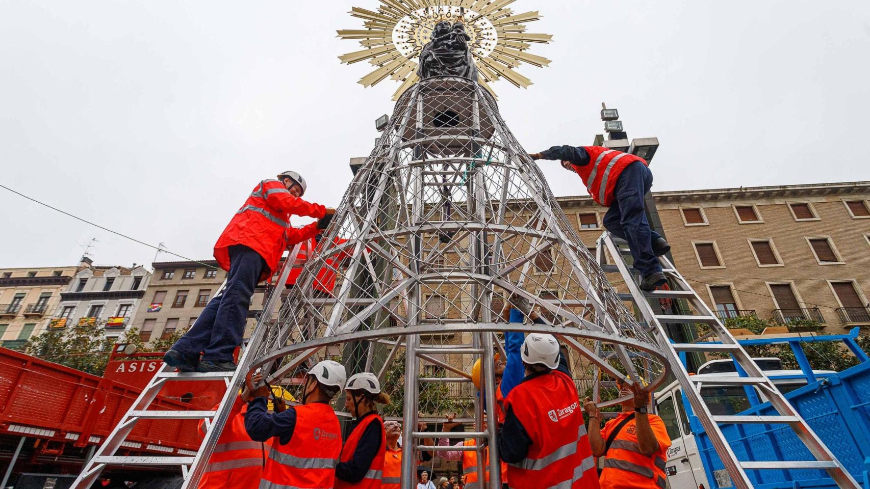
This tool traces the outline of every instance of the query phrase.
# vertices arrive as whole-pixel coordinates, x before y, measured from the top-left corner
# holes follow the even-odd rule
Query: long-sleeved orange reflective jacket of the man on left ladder
[[[320,219],[326,215],[326,208],[294,197],[278,180],[259,182],[215,243],[215,260],[229,271],[230,247],[244,245],[263,257],[266,267],[260,281],[268,279],[288,244],[305,241],[318,233],[316,222],[304,228],[291,228],[291,215]]]

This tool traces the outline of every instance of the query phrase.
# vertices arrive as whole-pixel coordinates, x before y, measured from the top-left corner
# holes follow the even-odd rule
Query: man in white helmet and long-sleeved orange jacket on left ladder
[[[232,354],[242,343],[254,287],[271,277],[288,245],[311,239],[335,214],[335,209],[303,201],[305,188],[305,179],[295,171],[254,188],[215,244],[215,259],[228,272],[224,291],[211,299],[191,330],[166,352],[167,365],[181,372],[236,369]],[[295,229],[290,227],[291,215],[320,221]]]

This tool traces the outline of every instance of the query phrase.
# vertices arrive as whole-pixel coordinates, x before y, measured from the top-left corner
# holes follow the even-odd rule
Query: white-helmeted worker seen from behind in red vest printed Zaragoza
[[[577,387],[552,334],[529,334],[522,349],[525,379],[505,399],[499,455],[511,487],[598,489]],[[574,446],[574,449],[565,449]]]

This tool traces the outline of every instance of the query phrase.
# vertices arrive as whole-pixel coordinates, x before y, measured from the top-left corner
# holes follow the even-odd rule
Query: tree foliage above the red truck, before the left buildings
[[[103,375],[116,343],[132,343],[138,352],[162,351],[171,346],[185,331],[176,332],[165,340],[155,340],[150,346],[146,346],[135,327],[116,340],[106,338],[102,326],[76,324],[63,330],[46,331],[31,338],[23,346],[23,351],[65,367]]]

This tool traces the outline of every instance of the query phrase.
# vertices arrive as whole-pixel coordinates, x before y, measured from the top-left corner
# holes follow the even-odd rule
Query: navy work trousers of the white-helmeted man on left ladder
[[[202,360],[231,361],[242,344],[251,295],[266,264],[263,257],[244,245],[230,247],[230,273],[223,294],[216,295],[199,314],[191,330],[172,347],[185,356]]]

